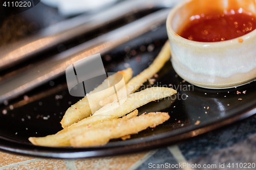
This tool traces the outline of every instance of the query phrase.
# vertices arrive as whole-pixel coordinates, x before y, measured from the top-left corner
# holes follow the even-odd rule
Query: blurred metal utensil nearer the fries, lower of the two
[[[165,22],[170,9],[162,9],[131,22],[121,28],[103,34],[88,42],[70,48],[35,66],[21,76],[0,84],[0,102],[15,98],[63,74],[66,68],[84,57],[105,53]]]

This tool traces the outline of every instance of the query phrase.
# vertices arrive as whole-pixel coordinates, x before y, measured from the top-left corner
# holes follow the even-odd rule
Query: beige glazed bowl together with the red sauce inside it
[[[255,0],[182,1],[166,20],[174,70],[204,88],[231,88],[254,80],[255,16]]]

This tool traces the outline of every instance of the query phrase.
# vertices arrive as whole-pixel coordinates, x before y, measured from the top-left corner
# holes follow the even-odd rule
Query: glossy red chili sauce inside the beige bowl
[[[237,38],[248,34],[256,28],[254,15],[239,11],[222,14],[191,16],[179,35],[183,38],[199,42],[217,42]]]

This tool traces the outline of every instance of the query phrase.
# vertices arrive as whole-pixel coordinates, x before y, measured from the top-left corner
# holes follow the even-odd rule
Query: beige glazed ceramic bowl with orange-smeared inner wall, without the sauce
[[[177,34],[191,16],[240,8],[256,14],[255,0],[186,0],[169,13],[166,27],[172,64],[181,78],[205,88],[229,88],[255,79],[256,30],[221,42],[191,41]]]

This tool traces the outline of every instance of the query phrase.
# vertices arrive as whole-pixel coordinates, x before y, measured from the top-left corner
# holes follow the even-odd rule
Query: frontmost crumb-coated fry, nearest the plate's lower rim
[[[105,145],[110,139],[138,133],[148,127],[156,127],[169,119],[168,113],[148,113],[131,118],[117,125],[103,129],[86,131],[83,135],[74,136],[70,143],[72,147],[95,147]]]

